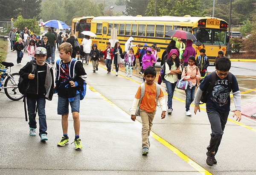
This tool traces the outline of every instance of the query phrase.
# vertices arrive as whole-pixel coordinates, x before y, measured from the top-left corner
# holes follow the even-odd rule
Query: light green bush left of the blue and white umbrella
[[[23,19],[20,15],[18,19],[13,23],[14,27],[17,27],[20,31],[27,27],[30,31],[35,32],[35,34],[40,34],[40,28],[38,26],[38,21],[34,17],[33,19]]]

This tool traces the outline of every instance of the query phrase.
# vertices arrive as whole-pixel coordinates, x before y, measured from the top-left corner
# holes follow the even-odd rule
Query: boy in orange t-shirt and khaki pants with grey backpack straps
[[[149,135],[151,127],[153,125],[153,119],[156,114],[157,102],[159,102],[162,114],[161,119],[166,116],[166,103],[163,91],[160,85],[154,83],[157,71],[154,67],[148,67],[145,69],[144,78],[146,82],[141,84],[137,90],[134,98],[134,102],[131,108],[131,120],[136,120],[136,109],[139,107],[139,116],[142,120],[142,154],[148,154],[148,149],[150,147]],[[144,93],[144,95],[143,95]],[[143,96],[142,96],[143,95]],[[137,114],[138,115],[138,114]]]

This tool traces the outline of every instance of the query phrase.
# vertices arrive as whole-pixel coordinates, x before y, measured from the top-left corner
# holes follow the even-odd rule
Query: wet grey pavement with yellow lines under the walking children
[[[9,50],[6,61],[15,60],[16,53]],[[12,72],[19,71],[27,61],[25,54],[23,62],[15,65]],[[176,90],[172,115],[160,119],[161,111],[157,108],[149,154],[142,156],[140,117],[134,122],[129,115],[141,76],[134,73],[131,78],[125,77],[125,73],[119,71],[116,77],[114,73],[107,74],[105,65],[100,65],[99,71],[93,73],[91,63],[84,68],[88,85],[86,98],[80,105],[81,151],[76,151],[73,144],[57,147],[62,130],[56,95],[47,102],[49,141],[43,143],[39,136],[29,136],[23,102],[13,102],[0,94],[0,174],[256,174],[254,119],[243,117],[238,123],[230,112],[216,155],[218,164],[209,167],[205,153],[211,130],[206,112],[202,109],[197,115],[185,116],[185,93]],[[238,80],[244,82],[239,83],[244,92],[242,105],[256,102],[255,74],[254,77],[238,76]],[[165,92],[164,84],[161,87]],[[247,92],[248,89],[251,91]],[[250,98],[245,98],[245,94]],[[69,135],[73,139],[72,117],[69,118]]]

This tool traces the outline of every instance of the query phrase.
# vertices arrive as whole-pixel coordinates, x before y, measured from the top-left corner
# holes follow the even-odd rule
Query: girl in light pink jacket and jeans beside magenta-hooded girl
[[[186,92],[186,116],[192,116],[192,113],[189,111],[190,104],[194,101],[195,98],[195,87],[197,85],[197,79],[201,78],[197,63],[195,61],[195,56],[189,56],[188,64],[183,68],[181,78],[184,77],[184,80],[188,80],[189,86],[185,90]]]

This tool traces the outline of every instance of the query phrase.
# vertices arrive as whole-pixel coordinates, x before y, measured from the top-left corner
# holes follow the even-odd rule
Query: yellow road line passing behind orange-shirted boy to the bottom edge
[[[88,84],[87,84],[88,85]],[[103,96],[101,93],[99,93],[97,90],[95,90],[93,87],[91,87],[90,85],[88,85],[89,89],[92,90],[93,92],[98,93],[106,102],[110,103],[111,106],[117,107],[119,108],[119,110],[122,110],[120,107],[118,107],[116,104],[114,104],[113,102],[111,102],[109,99],[107,99],[105,96]],[[127,114],[128,116],[130,116],[130,114],[126,113],[124,110],[122,110],[125,114]],[[138,120],[137,120],[138,121]],[[138,121],[140,124],[141,122]],[[156,133],[154,133],[153,131],[150,132],[150,134],[157,140],[159,141],[161,144],[163,144],[164,146],[166,146],[169,150],[171,150],[172,152],[174,152],[177,156],[179,156],[183,161],[186,161],[186,163],[188,163],[191,167],[195,168],[198,172],[200,172],[202,175],[212,175],[209,171],[207,171],[206,169],[204,169],[203,167],[201,167],[199,164],[197,164],[195,161],[193,161],[191,158],[189,158],[188,156],[186,156],[185,154],[183,154],[180,150],[178,150],[176,147],[174,147],[172,144],[168,143],[166,140],[164,140],[163,138],[161,138],[159,135],[157,135]]]

